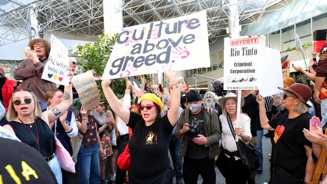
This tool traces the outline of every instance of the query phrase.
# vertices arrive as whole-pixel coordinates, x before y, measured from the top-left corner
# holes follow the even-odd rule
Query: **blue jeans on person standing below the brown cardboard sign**
[[[77,155],[77,163],[79,184],[100,183],[100,158],[98,143],[89,145],[87,148],[85,148],[84,144],[81,144]]]

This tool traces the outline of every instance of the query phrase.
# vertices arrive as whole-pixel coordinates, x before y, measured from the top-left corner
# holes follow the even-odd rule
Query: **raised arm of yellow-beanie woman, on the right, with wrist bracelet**
[[[177,118],[179,115],[179,109],[180,109],[180,102],[181,102],[181,91],[180,87],[178,85],[178,80],[176,76],[176,72],[166,71],[165,76],[169,80],[170,85],[170,94],[171,94],[171,107],[168,110],[167,116],[169,119],[169,122],[174,127],[177,123]]]

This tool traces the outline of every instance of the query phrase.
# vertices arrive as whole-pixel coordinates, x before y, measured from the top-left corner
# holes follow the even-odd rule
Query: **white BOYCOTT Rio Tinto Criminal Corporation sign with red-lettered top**
[[[265,44],[265,36],[225,38],[224,90],[259,88]]]

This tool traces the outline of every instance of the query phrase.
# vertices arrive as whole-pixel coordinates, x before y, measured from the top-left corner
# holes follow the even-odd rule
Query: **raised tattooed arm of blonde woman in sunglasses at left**
[[[69,67],[70,68],[70,67]],[[70,105],[72,104],[72,90],[71,90],[71,78],[73,76],[73,73],[71,72],[71,68],[69,71],[69,84],[68,86],[65,86],[65,89],[63,91],[63,101],[55,106],[54,108],[47,110],[42,113],[42,118],[45,120],[45,122],[53,122],[56,119],[58,119],[63,113],[65,113]]]

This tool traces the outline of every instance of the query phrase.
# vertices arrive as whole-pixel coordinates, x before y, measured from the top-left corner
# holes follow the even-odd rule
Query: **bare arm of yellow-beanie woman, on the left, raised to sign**
[[[125,109],[121,105],[121,101],[116,97],[112,89],[109,87],[111,79],[104,79],[101,82],[103,93],[106,96],[106,99],[111,107],[111,109],[119,116],[123,122],[126,124],[129,121],[129,110]]]

